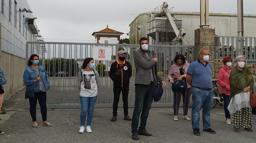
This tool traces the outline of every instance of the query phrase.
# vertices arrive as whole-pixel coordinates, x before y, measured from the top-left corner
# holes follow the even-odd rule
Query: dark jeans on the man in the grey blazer
[[[153,94],[154,94],[154,83],[150,83],[149,85],[136,84],[135,104],[134,104],[134,110],[133,110],[133,119],[131,123],[132,133],[138,132],[140,114],[141,114],[141,125],[139,127],[139,132],[145,130],[149,110],[151,108],[151,104],[153,101]]]

